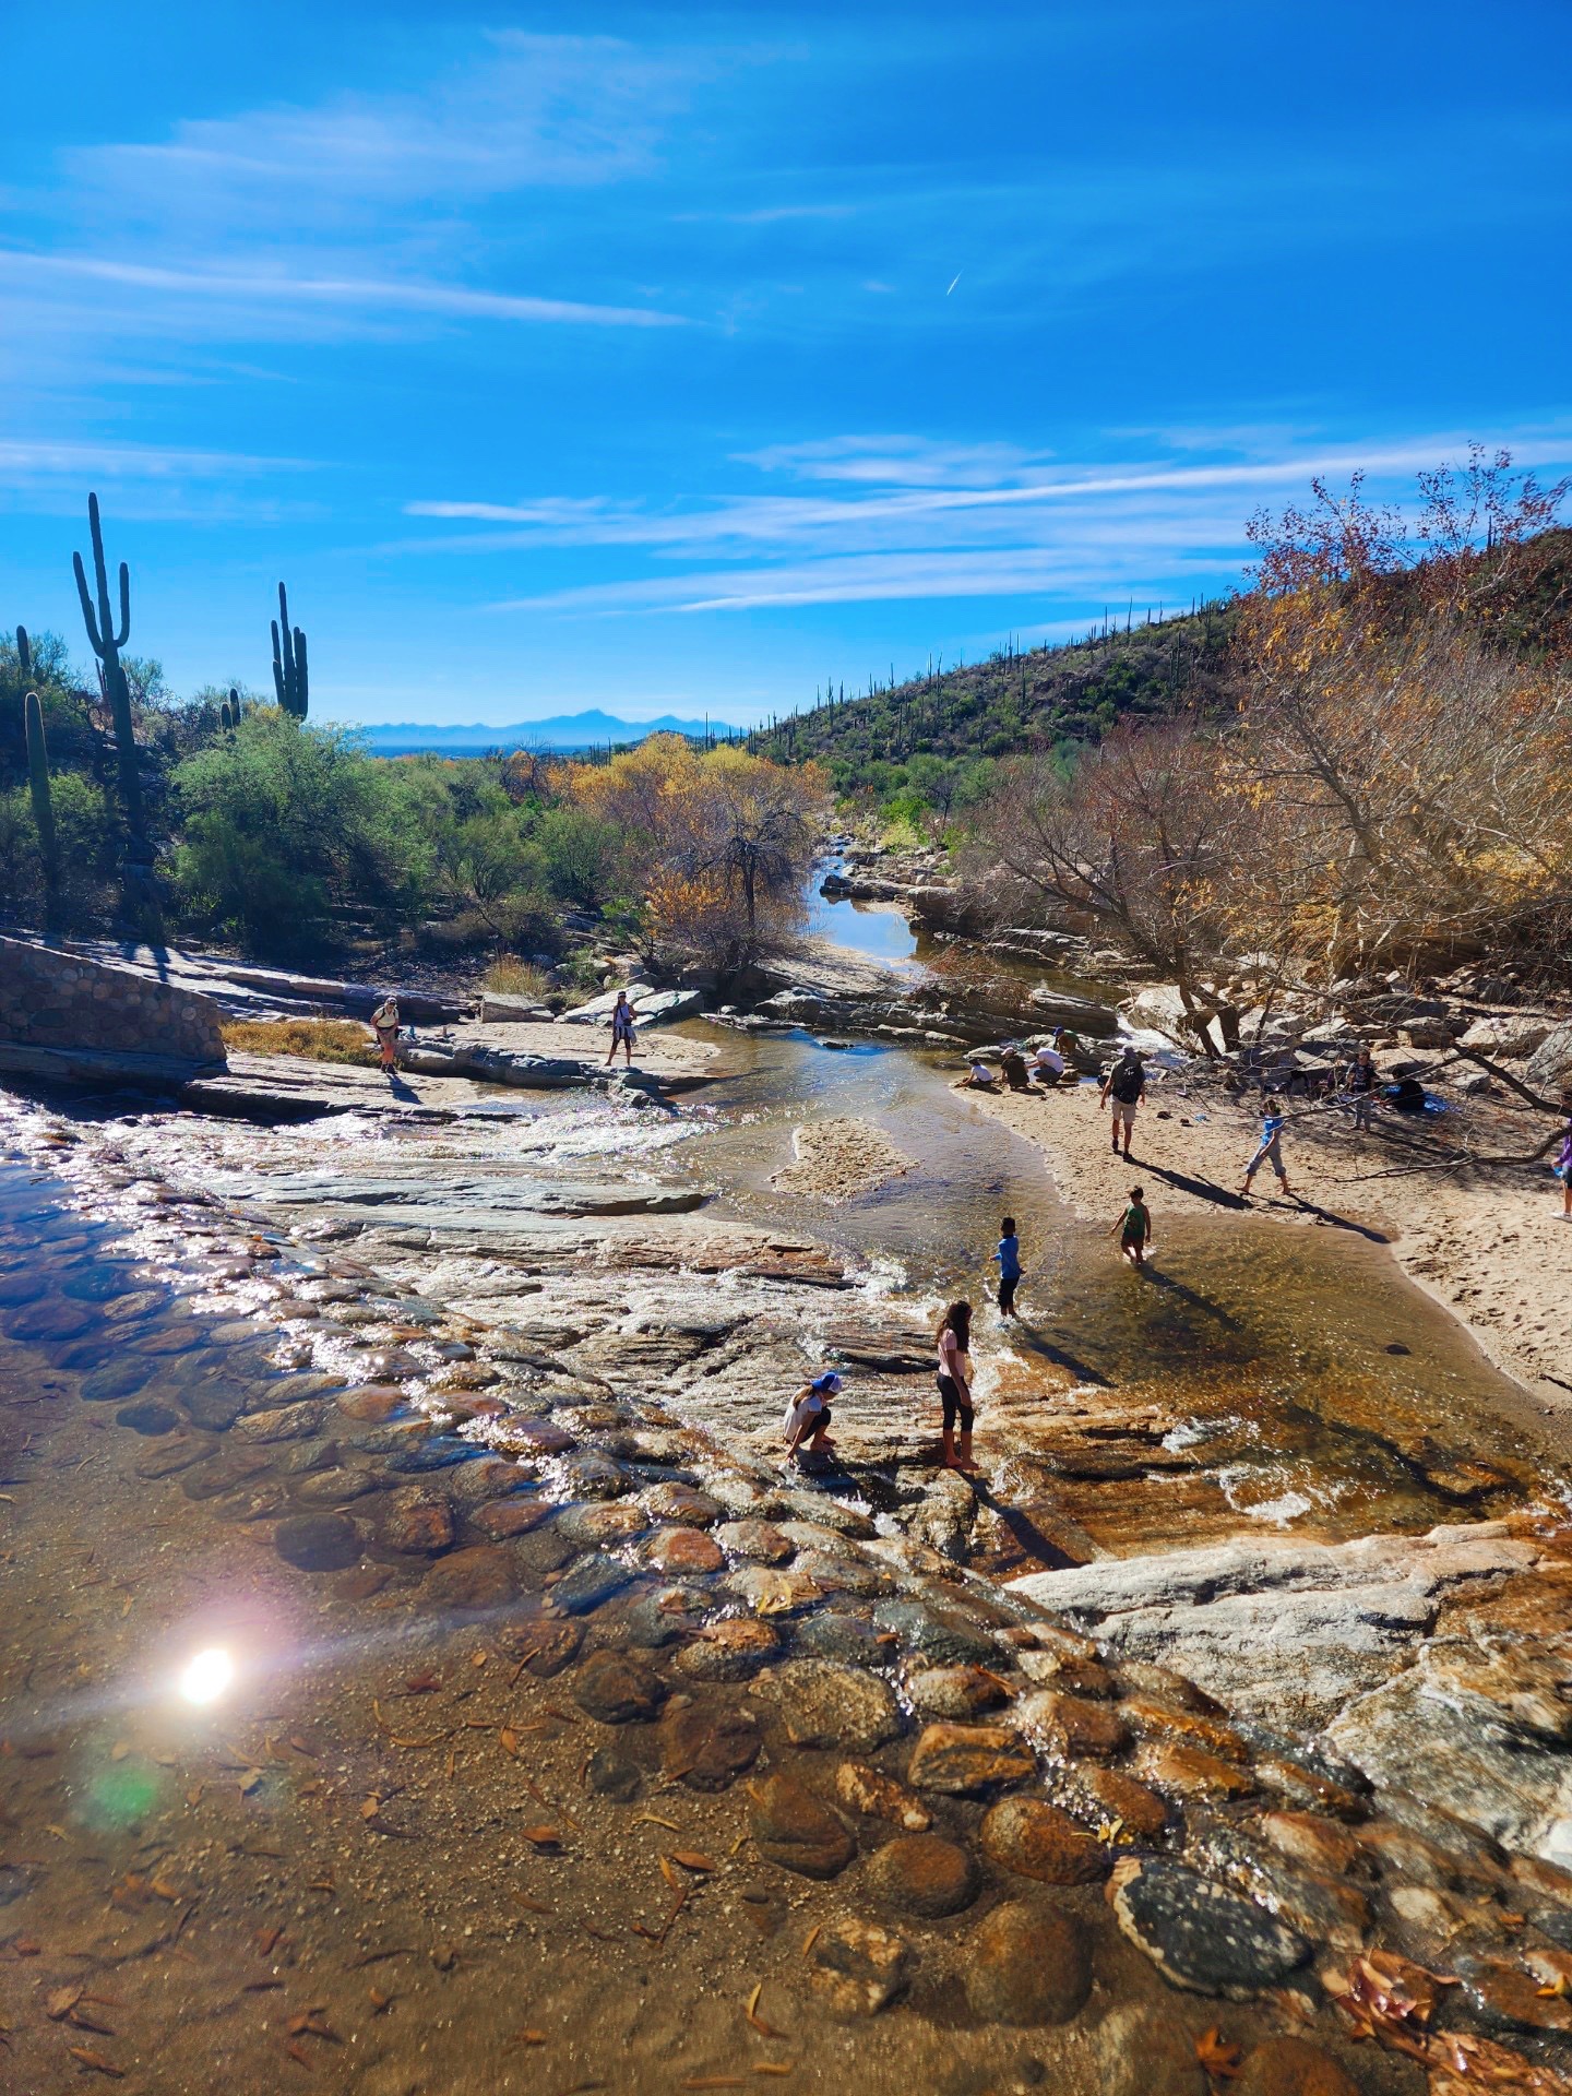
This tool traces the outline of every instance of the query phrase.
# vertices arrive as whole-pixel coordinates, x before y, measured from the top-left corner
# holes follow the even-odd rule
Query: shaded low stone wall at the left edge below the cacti
[[[212,998],[25,939],[0,939],[0,1044],[224,1061]]]

